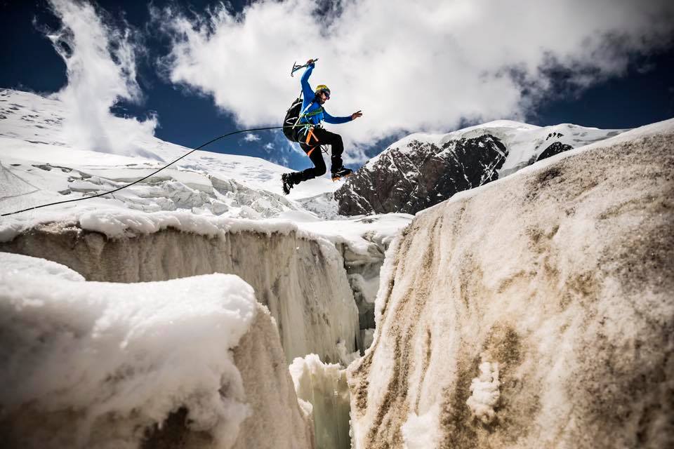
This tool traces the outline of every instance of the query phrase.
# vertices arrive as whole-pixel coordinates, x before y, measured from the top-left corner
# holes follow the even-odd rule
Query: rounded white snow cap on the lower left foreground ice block
[[[19,256],[1,257],[4,265]],[[0,273],[0,403],[16,443],[39,445],[43,429],[22,434],[22,420],[44,413],[70,424],[50,447],[136,448],[136,426],[160,424],[181,406],[191,429],[234,443],[251,414],[228,351],[256,316],[248,284],[225,274],[86,282],[32,257],[22,264],[32,267]]]

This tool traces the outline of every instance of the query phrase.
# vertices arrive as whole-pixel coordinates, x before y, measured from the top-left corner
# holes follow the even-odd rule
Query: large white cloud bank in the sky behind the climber
[[[332,6],[328,6],[332,5]],[[258,1],[239,15],[166,10],[169,77],[212,95],[242,126],[279,123],[299,91],[293,61],[320,58],[333,115],[362,109],[344,135],[358,146],[461,120],[522,119],[561,67],[576,86],[623,73],[630,56],[670,42],[668,0]],[[328,13],[325,8],[331,8]]]

